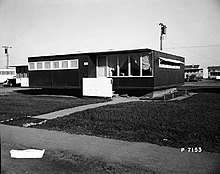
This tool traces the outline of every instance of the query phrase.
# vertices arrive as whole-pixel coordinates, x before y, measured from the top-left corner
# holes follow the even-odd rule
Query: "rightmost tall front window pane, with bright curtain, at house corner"
[[[142,76],[152,76],[152,58],[149,54],[142,54]]]

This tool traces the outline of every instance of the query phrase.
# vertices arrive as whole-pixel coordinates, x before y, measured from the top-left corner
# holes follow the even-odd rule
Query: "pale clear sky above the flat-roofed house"
[[[201,68],[220,65],[220,0],[0,0],[0,45],[28,57],[152,48]],[[0,68],[6,67],[4,49]]]

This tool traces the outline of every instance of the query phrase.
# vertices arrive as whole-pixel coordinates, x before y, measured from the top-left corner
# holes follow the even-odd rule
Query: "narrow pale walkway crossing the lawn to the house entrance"
[[[63,109],[63,110],[56,111],[56,112],[51,112],[51,113],[48,113],[48,114],[34,116],[32,118],[48,119],[49,120],[49,119],[54,119],[54,118],[57,118],[57,117],[64,117],[66,115],[70,115],[70,114],[73,114],[75,112],[80,112],[80,111],[84,111],[84,110],[87,110],[87,109],[97,108],[97,107],[100,107],[100,106],[112,105],[112,104],[118,104],[118,103],[126,103],[126,102],[133,102],[133,101],[141,101],[141,100],[139,100],[138,97],[129,97],[129,98],[116,97],[112,101],[109,101],[109,102],[95,103],[95,104],[83,105],[83,106],[78,106],[78,107],[69,108],[69,109]]]

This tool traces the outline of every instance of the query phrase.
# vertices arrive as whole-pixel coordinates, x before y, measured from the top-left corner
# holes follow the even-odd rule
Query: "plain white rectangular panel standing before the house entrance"
[[[112,79],[83,78],[83,96],[112,97]]]

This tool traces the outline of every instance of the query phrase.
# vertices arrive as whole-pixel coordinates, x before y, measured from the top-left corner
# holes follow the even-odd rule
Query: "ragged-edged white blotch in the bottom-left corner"
[[[42,158],[45,149],[10,150],[11,158]]]

